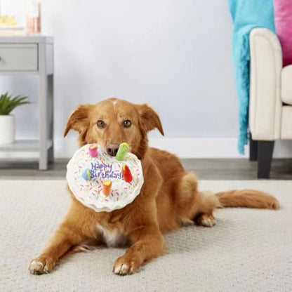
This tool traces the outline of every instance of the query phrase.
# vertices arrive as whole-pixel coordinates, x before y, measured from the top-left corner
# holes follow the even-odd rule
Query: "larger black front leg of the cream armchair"
[[[274,141],[258,141],[258,178],[270,178]]]

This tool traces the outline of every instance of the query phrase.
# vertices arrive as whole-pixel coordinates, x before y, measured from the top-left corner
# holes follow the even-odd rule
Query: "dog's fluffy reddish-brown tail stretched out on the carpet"
[[[230,190],[215,194],[223,207],[279,209],[279,201],[270,194],[257,190]]]

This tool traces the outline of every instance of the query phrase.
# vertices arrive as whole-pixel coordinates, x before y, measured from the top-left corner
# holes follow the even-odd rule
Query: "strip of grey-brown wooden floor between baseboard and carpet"
[[[37,161],[0,161],[0,179],[65,179],[68,159],[56,159],[48,171],[39,171]],[[248,159],[182,159],[188,171],[201,180],[255,180],[257,163]],[[292,180],[292,159],[274,159],[271,179]]]

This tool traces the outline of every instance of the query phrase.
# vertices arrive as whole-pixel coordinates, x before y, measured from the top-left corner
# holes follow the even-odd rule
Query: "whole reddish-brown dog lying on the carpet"
[[[164,135],[151,107],[116,98],[80,105],[70,115],[64,136],[70,129],[79,131],[80,146],[98,142],[112,156],[121,142],[128,142],[131,152],[141,160],[145,183],[131,204],[110,213],[86,208],[68,188],[72,204],[65,220],[43,253],[32,260],[30,272],[51,272],[62,255],[88,239],[96,239],[108,246],[131,244],[112,267],[115,274],[131,274],[164,253],[166,232],[194,221],[213,226],[215,208],[279,208],[277,199],[255,190],[199,192],[196,176],[186,172],[175,155],[148,147],[147,132],[154,128]]]

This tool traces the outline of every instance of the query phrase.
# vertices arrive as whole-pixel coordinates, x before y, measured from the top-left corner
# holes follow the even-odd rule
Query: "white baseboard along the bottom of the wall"
[[[244,156],[237,152],[237,138],[150,138],[150,146],[172,152],[180,158],[244,158],[248,157],[248,147]],[[69,158],[77,150],[74,137],[55,139],[55,157]],[[29,156],[28,156],[29,154]],[[0,152],[0,158],[37,158],[38,153]],[[292,157],[292,140],[275,143],[277,158]]]

